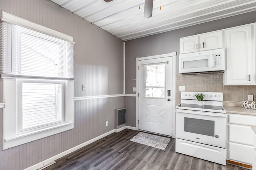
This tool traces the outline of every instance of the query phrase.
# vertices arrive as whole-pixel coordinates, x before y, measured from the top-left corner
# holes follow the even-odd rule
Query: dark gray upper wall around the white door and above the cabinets
[[[125,42],[125,93],[135,94],[136,57],[180,51],[180,38],[256,22],[256,11]],[[176,75],[179,75],[178,55]]]

